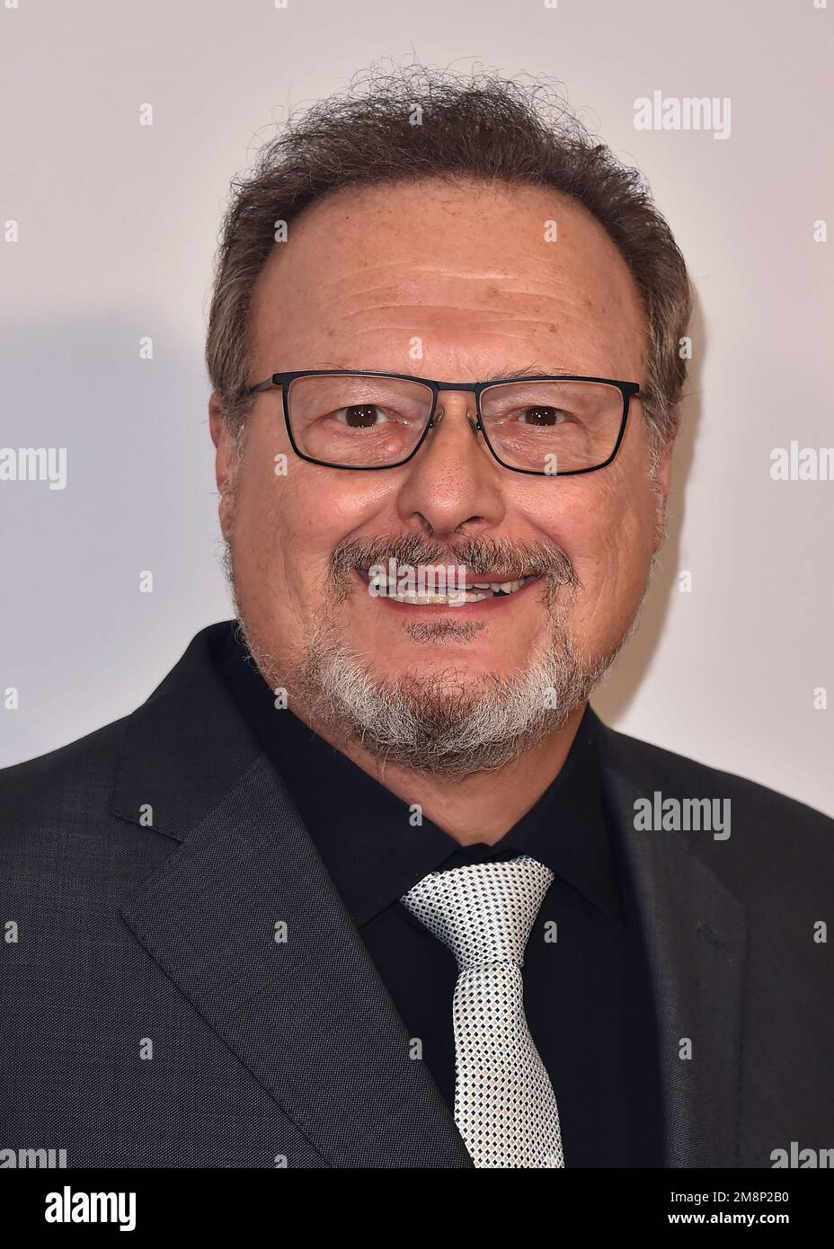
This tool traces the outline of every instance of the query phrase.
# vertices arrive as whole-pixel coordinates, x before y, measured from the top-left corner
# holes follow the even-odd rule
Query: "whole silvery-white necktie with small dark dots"
[[[521,970],[552,879],[523,854],[431,872],[401,898],[458,963],[454,1122],[476,1167],[564,1167],[556,1094],[527,1027]]]

